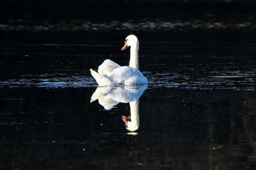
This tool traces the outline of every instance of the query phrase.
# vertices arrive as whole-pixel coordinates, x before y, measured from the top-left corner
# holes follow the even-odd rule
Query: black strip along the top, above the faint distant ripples
[[[242,22],[254,24],[255,6],[255,1],[1,1],[0,21],[2,24],[10,23],[11,26],[47,25],[43,21],[48,24],[64,22],[73,24],[74,27],[80,26],[83,21],[104,23],[132,19],[139,23],[144,18],[149,21],[158,19],[230,25]],[[78,21],[72,23],[73,20]],[[2,27],[1,29],[7,31]],[[29,31],[26,28],[17,30]],[[228,30],[235,28],[229,26]],[[247,29],[252,30],[255,27]],[[71,29],[63,30],[65,31]]]

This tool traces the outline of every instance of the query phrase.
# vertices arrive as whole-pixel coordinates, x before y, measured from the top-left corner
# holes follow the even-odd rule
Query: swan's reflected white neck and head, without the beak
[[[139,99],[129,103],[131,108],[131,122],[129,122],[128,130],[134,131],[139,128]]]

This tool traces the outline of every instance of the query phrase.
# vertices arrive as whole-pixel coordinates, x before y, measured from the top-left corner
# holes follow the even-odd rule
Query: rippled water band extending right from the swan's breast
[[[164,86],[180,89],[235,89],[255,91],[255,75],[188,76],[174,73],[146,74],[149,89]]]

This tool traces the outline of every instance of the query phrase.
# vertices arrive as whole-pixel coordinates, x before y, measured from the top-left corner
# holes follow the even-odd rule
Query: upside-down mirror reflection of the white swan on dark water
[[[92,94],[91,101],[98,99],[100,105],[110,110],[118,103],[129,103],[131,110],[131,120],[127,116],[122,116],[127,130],[134,131],[139,128],[139,97],[142,96],[147,85],[142,86],[117,86],[117,87],[97,87]]]

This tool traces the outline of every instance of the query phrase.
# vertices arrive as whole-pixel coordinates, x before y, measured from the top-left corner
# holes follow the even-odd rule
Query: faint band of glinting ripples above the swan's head
[[[252,21],[253,22],[253,21]],[[7,23],[0,24],[1,31],[32,31],[32,32],[55,32],[55,31],[89,31],[91,33],[132,30],[132,31],[181,31],[203,28],[206,30],[243,30],[252,27],[250,21],[247,22],[226,22],[226,21],[202,21],[202,20],[162,20],[162,19],[129,19],[127,21],[108,21],[93,23],[87,20],[70,20],[50,23],[49,21],[40,21],[36,25],[35,21],[10,20]]]

